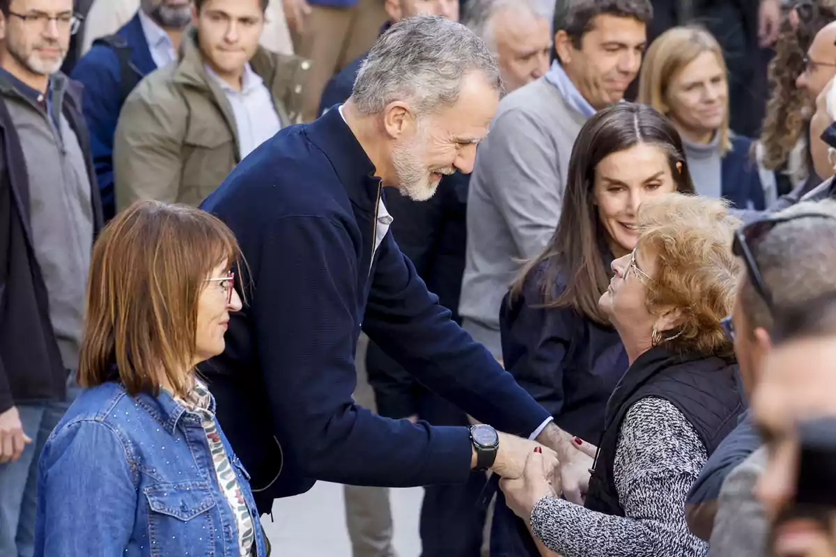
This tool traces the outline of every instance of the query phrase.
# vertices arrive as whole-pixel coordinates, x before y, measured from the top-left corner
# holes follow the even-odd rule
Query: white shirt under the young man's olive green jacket
[[[282,121],[278,118],[273,104],[273,95],[268,91],[263,79],[252,71],[250,64],[244,66],[241,91],[232,89],[208,65],[206,73],[221,87],[232,105],[242,159],[282,129]]]

